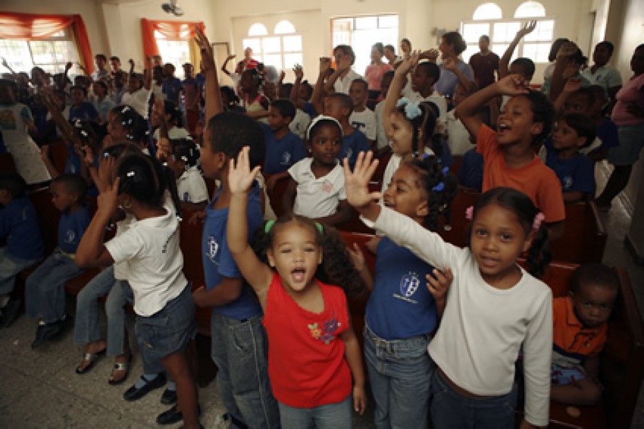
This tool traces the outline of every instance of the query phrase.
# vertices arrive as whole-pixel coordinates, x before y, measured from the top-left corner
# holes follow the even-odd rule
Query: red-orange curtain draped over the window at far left
[[[39,40],[71,26],[78,43],[81,60],[91,73],[94,62],[87,29],[80,15],[35,15],[30,13],[0,12],[0,38]]]

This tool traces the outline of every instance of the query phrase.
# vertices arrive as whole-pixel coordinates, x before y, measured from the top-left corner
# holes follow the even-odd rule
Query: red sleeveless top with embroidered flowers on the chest
[[[273,395],[294,408],[344,401],[352,391],[344,342],[350,328],[344,291],[318,281],[324,299],[320,314],[301,308],[275,273],[266,299],[264,326],[269,341]]]

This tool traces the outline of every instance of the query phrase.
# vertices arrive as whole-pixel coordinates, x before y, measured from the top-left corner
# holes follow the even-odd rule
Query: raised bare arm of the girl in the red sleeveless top
[[[244,279],[257,293],[260,304],[264,308],[273,272],[268,265],[257,258],[248,243],[246,216],[248,191],[260,171],[260,166],[256,166],[252,171],[250,170],[248,152],[249,148],[245,146],[237,158],[236,166],[233,160],[230,161],[228,180],[231,189],[231,205],[229,207],[226,238],[235,263],[237,263]]]

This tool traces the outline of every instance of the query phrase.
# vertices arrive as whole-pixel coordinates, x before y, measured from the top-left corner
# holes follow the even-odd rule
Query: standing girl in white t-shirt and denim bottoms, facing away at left
[[[114,160],[108,161],[111,170]],[[160,360],[175,380],[184,428],[199,428],[197,387],[184,354],[195,333],[195,304],[182,272],[179,220],[164,207],[166,189],[159,161],[138,154],[121,158],[116,180],[98,196],[98,210],[78,246],[76,263],[89,268],[127,261],[138,347]],[[104,243],[105,228],[119,206],[136,222]]]

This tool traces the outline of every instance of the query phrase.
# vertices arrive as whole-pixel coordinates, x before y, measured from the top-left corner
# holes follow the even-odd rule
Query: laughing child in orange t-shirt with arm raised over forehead
[[[483,192],[498,186],[518,189],[530,197],[546,216],[548,238],[564,231],[564,199],[557,175],[535,155],[535,146],[550,133],[553,106],[544,94],[526,88],[519,75],[509,75],[465,98],[456,117],[476,136],[476,150],[483,155]],[[478,110],[492,98],[512,96],[497,119],[497,132],[478,117]]]

